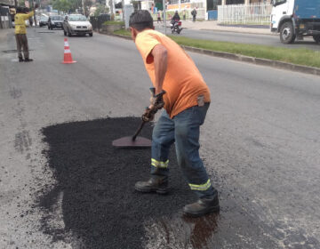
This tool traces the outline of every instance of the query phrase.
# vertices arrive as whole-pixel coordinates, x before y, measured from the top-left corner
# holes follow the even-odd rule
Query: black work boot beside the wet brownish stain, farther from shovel
[[[183,213],[191,217],[203,216],[207,213],[214,213],[220,211],[219,198],[216,195],[212,198],[201,198],[196,203],[185,205]]]

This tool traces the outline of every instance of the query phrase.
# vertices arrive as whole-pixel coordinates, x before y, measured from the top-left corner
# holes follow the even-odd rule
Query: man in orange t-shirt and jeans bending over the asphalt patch
[[[183,213],[196,217],[218,212],[218,192],[199,157],[200,125],[204,124],[210,105],[209,88],[188,54],[172,39],[154,30],[148,11],[133,12],[129,26],[154,85],[151,104],[142,119],[153,120],[156,111],[164,107],[152,134],[151,177],[138,181],[135,189],[168,192],[168,157],[175,142],[178,165],[198,197],[196,203],[184,206]]]

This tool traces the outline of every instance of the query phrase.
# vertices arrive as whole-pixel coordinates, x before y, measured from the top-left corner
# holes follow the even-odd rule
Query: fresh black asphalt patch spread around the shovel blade
[[[147,242],[144,222],[180,213],[183,205],[196,200],[177,165],[174,146],[170,157],[168,195],[141,194],[136,181],[148,180],[150,149],[116,149],[111,143],[132,135],[140,118],[105,118],[55,124],[43,129],[44,151],[55,186],[39,199],[43,229],[55,239],[71,232],[84,248],[142,248]],[[151,138],[146,125],[142,136]],[[63,193],[65,228],[51,228],[52,206]]]

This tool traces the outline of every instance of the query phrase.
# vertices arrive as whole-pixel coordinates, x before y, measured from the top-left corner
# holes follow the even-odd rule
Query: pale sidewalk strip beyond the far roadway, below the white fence
[[[162,23],[154,22],[155,26],[161,26]],[[170,27],[170,22],[167,21],[167,27]],[[212,30],[212,31],[226,31],[234,33],[258,34],[258,35],[273,35],[269,28],[246,28],[246,27],[231,27],[218,25],[216,20],[204,20],[193,22],[191,20],[182,20],[182,28],[195,30]]]

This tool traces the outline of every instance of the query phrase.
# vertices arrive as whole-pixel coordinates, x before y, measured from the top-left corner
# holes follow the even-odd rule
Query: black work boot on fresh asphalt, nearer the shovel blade
[[[164,178],[150,178],[148,181],[138,181],[134,189],[143,193],[156,192],[164,195],[168,193],[168,180]]]

